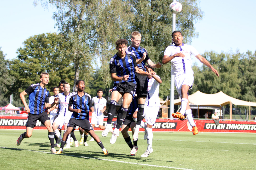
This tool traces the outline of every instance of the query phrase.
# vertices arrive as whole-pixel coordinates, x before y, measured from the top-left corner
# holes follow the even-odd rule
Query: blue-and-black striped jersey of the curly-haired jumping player
[[[119,57],[117,54],[115,54],[110,59],[110,63],[109,63],[110,73],[117,73],[118,77],[122,77],[124,75],[129,74],[129,78],[126,81],[121,80],[121,81],[115,81],[114,83],[131,82],[131,83],[137,84],[135,80],[135,74],[134,74],[135,72],[134,67],[137,66],[135,54],[127,51],[124,58]]]

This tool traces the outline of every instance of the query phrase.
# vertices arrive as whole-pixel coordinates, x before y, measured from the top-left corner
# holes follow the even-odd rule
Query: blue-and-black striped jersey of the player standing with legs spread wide
[[[91,96],[89,94],[84,93],[84,96],[80,97],[77,92],[72,93],[68,106],[72,105],[73,109],[80,109],[82,111],[80,113],[73,112],[71,118],[89,120],[89,110],[92,107]]]

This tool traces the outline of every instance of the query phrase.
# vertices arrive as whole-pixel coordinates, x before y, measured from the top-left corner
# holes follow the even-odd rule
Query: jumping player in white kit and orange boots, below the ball
[[[174,45],[168,46],[164,52],[163,64],[171,62],[172,71],[171,74],[175,75],[174,81],[176,90],[181,98],[181,110],[180,112],[173,113],[174,118],[178,118],[181,121],[184,120],[184,115],[187,115],[188,122],[193,127],[193,135],[198,134],[198,129],[193,120],[192,110],[188,101],[188,90],[192,88],[194,81],[194,72],[192,70],[191,55],[194,55],[204,65],[211,68],[211,70],[219,77],[218,71],[212,67],[212,65],[203,58],[194,47],[183,44],[183,37],[180,31],[174,31],[172,33],[172,43]]]

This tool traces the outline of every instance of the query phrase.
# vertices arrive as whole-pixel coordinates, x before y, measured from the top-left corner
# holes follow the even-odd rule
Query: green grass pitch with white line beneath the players
[[[255,169],[256,134],[153,132],[153,149],[147,158],[144,133],[139,133],[136,156],[121,133],[115,144],[111,134],[100,137],[109,155],[98,144],[64,149],[61,155],[51,154],[48,131],[34,130],[20,146],[16,140],[24,130],[0,130],[0,169]],[[131,132],[129,132],[131,138]],[[79,131],[75,136],[80,140]],[[90,137],[88,137],[90,140]],[[56,148],[59,150],[59,148]]]

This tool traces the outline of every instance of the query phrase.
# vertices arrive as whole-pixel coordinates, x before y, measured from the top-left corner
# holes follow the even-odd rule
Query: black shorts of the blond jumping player
[[[135,80],[137,82],[136,94],[138,97],[148,96],[148,78],[144,75],[135,74]]]

